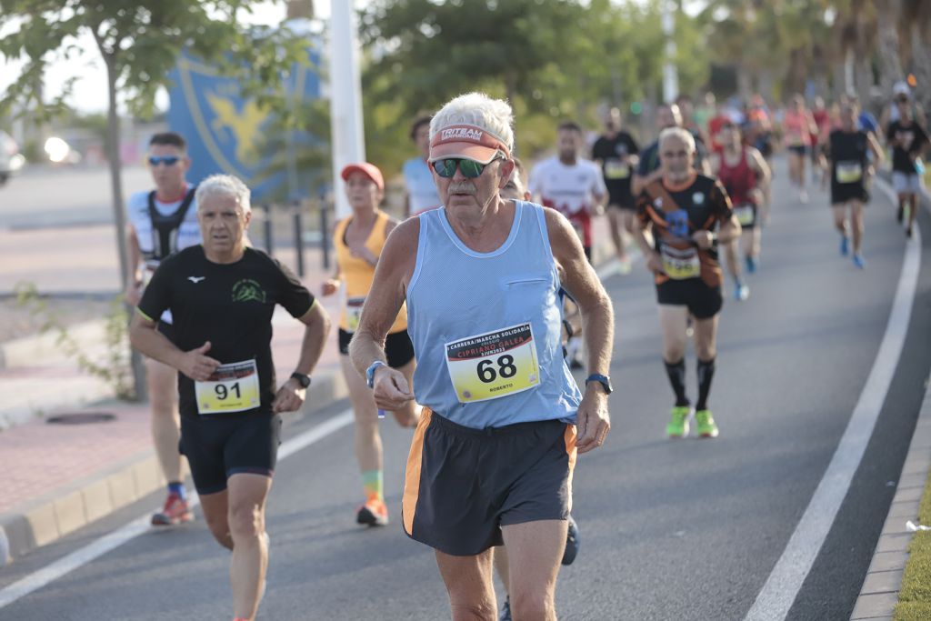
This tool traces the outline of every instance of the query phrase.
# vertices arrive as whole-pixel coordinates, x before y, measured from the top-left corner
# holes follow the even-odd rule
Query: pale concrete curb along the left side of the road
[[[304,407],[294,419],[312,415],[312,412],[348,395],[345,380],[338,369],[315,375]],[[165,478],[155,452],[148,448],[101,472],[16,506],[0,515],[0,567],[111,515],[164,486]]]

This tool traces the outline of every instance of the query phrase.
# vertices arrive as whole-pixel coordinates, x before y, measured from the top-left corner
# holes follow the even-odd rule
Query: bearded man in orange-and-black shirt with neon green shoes
[[[697,434],[715,438],[718,425],[708,410],[708,393],[723,304],[718,243],[727,244],[740,236],[740,224],[721,182],[695,171],[692,134],[682,128],[664,129],[659,135],[659,159],[662,176],[647,183],[637,199],[637,241],[656,282],[663,362],[676,398],[666,434],[669,438],[689,434],[693,412],[685,396],[685,348],[691,314],[698,358]],[[648,230],[654,238],[652,247],[645,236]]]

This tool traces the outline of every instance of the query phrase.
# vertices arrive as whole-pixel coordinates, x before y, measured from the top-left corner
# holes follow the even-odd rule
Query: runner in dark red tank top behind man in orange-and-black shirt
[[[735,124],[729,123],[722,128],[721,139],[724,148],[720,154],[715,154],[712,166],[731,197],[734,215],[743,231],[739,242],[735,239],[724,246],[724,256],[727,270],[734,278],[734,297],[746,300],[750,290],[740,274],[737,244],[743,246],[747,271],[752,274],[760,258],[762,222],[757,218],[757,209],[762,204],[762,188],[769,182],[770,169],[759,151],[743,144],[740,128]]]

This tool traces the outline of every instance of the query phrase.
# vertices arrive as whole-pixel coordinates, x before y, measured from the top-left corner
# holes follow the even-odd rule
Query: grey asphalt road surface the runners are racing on
[[[823,193],[797,204],[780,170],[773,223],[749,301],[723,310],[710,407],[713,440],[664,439],[672,405],[660,359],[654,289],[638,266],[610,277],[618,330],[614,428],[583,455],[573,484],[582,549],[560,573],[563,619],[742,619],[803,515],[853,412],[883,338],[906,240],[878,194],[867,210],[867,270],[837,251]],[[792,619],[844,619],[866,573],[931,368],[931,218],[902,357],[870,446]],[[695,358],[687,358],[695,398]],[[346,403],[295,417],[294,437]],[[411,433],[383,425],[385,487],[395,519],[353,523],[360,501],[351,428],[277,469],[269,502],[268,593],[260,619],[442,619],[448,607],[430,550],[407,539],[400,485]],[[88,447],[88,450],[93,450]],[[0,573],[0,588],[122,524],[130,506]],[[0,609],[0,619],[229,617],[228,554],[202,520],[144,533]]]

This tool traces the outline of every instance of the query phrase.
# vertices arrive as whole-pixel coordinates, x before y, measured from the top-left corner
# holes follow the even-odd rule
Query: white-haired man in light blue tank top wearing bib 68
[[[403,528],[435,548],[453,619],[496,614],[491,548],[503,543],[514,616],[556,618],[575,455],[598,448],[610,427],[611,300],[559,212],[501,197],[514,169],[512,118],[506,101],[480,93],[433,117],[444,206],[388,238],[349,346],[379,407],[415,397],[424,406]],[[560,285],[586,324],[584,397],[562,359]],[[413,391],[382,349],[405,302]]]

